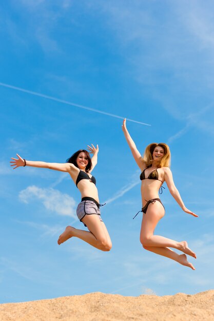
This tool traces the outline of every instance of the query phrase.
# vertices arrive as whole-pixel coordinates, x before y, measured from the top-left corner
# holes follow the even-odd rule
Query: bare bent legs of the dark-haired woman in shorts
[[[75,229],[71,226],[67,226],[63,234],[60,235],[58,244],[64,243],[72,236],[78,237],[93,247],[102,250],[110,251],[111,239],[105,227],[105,224],[101,222],[97,214],[85,215],[82,222],[87,225],[89,231]]]

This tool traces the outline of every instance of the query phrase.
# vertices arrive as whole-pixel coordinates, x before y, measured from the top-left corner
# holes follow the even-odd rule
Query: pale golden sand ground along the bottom
[[[213,321],[214,290],[194,295],[100,292],[0,305],[1,321]]]

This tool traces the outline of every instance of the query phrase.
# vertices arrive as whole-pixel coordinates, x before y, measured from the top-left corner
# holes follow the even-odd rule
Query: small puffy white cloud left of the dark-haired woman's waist
[[[76,218],[75,200],[68,194],[63,194],[59,190],[53,188],[40,188],[29,186],[22,190],[19,198],[23,203],[33,202],[40,199],[45,208],[59,215],[68,215]]]

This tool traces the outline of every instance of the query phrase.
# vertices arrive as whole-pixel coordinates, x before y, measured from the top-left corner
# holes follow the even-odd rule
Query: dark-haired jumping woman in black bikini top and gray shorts
[[[112,247],[111,239],[101,218],[98,189],[95,186],[96,179],[91,175],[98,162],[99,148],[98,145],[96,148],[92,144],[91,146],[88,146],[88,150],[93,154],[92,158],[87,150],[81,149],[71,155],[67,159],[67,163],[62,164],[26,160],[18,154],[16,154],[18,158],[11,157],[12,161],[10,163],[12,163],[13,169],[20,166],[31,166],[68,172],[82,196],[81,202],[76,209],[77,217],[88,228],[88,231],[67,226],[60,235],[58,244],[60,245],[75,236],[101,251],[110,251]]]

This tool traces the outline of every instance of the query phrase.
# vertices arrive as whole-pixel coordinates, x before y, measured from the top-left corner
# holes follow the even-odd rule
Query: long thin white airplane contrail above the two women
[[[59,99],[59,98],[56,98],[56,97],[48,96],[48,95],[41,94],[41,93],[38,93],[38,92],[35,92],[35,91],[31,91],[31,90],[27,90],[27,89],[24,89],[24,88],[15,87],[15,86],[4,84],[4,83],[0,83],[0,86],[7,87],[7,88],[10,88],[10,89],[14,89],[14,90],[18,90],[18,91],[22,91],[22,92],[26,92],[26,93],[34,95],[34,96],[39,96],[39,97],[51,99],[51,101],[59,102],[59,103],[62,103],[62,104],[75,106],[75,107],[82,108],[82,109],[87,109],[87,110],[94,111],[96,113],[100,113],[100,114],[103,114],[103,115],[107,115],[107,116],[111,116],[111,117],[115,117],[115,118],[121,118],[121,119],[125,118],[125,117],[121,117],[121,116],[118,116],[118,115],[110,114],[110,113],[107,113],[105,111],[101,111],[101,110],[98,110],[98,109],[82,106],[82,105],[79,105],[79,104],[70,103],[70,102],[64,101],[63,99]],[[141,124],[141,125],[151,126],[151,125],[146,124],[146,123],[133,121],[133,119],[129,119],[129,118],[126,118],[126,120],[129,121],[129,122],[138,123],[138,124]]]

